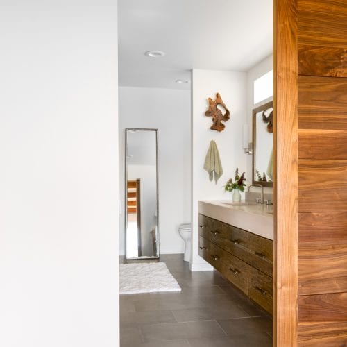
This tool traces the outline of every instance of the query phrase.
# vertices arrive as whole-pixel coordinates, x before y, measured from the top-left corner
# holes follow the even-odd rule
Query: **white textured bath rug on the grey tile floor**
[[[119,265],[119,294],[181,291],[164,262]]]

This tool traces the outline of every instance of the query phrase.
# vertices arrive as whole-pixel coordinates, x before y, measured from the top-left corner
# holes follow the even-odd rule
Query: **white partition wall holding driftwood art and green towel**
[[[205,116],[208,97],[215,99],[216,92],[230,110],[230,120],[221,132],[210,130],[211,117]],[[192,71],[192,271],[212,269],[198,256],[198,200],[231,199],[224,192],[223,185],[228,178],[234,178],[235,169],[246,171],[246,183],[250,178],[246,170],[246,154],[242,149],[242,126],[246,123],[246,73],[230,71]],[[219,149],[223,176],[210,182],[208,173],[203,169],[205,155],[214,139]],[[244,194],[242,194],[244,195]]]

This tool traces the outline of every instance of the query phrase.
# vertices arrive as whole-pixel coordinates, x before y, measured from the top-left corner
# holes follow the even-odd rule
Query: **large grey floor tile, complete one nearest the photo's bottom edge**
[[[226,335],[216,321],[144,325],[141,331],[145,342]]]

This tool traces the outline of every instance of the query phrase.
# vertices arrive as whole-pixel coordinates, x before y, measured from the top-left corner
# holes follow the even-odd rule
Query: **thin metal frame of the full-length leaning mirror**
[[[156,192],[156,201],[157,201],[157,208],[156,208],[156,214],[157,214],[157,235],[156,235],[156,244],[157,244],[157,255],[153,256],[147,256],[142,255],[141,257],[127,257],[126,260],[139,260],[139,259],[159,259],[160,257],[160,242],[159,242],[159,179],[158,179],[158,129],[155,128],[125,128],[125,160],[124,160],[124,167],[125,167],[125,180],[124,180],[124,214],[125,214],[125,229],[124,229],[124,241],[125,241],[125,253],[126,253],[126,231],[128,229],[128,211],[127,211],[127,205],[128,205],[128,131],[155,131],[155,166],[156,166],[156,186],[157,186],[157,192]]]

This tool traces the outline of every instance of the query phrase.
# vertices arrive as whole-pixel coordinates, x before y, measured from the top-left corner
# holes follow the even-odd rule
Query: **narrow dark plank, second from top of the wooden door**
[[[347,49],[299,45],[300,75],[347,77]]]

